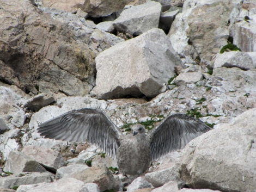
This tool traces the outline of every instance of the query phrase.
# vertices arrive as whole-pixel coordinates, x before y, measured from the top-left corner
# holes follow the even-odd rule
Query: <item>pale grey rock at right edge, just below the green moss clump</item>
[[[239,67],[242,70],[250,70],[255,69],[256,62],[246,52],[230,51],[217,53],[214,68],[218,67]]]

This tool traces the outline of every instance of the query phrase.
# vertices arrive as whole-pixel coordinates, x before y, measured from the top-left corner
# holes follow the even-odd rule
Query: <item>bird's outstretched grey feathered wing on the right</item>
[[[204,122],[191,116],[184,114],[168,116],[149,135],[152,160],[185,147],[189,141],[210,129]]]

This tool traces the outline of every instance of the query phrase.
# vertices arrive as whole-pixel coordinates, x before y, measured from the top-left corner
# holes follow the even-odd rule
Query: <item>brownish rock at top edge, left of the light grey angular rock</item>
[[[126,0],[86,0],[82,10],[86,11],[90,17],[103,17],[122,10],[126,3]]]

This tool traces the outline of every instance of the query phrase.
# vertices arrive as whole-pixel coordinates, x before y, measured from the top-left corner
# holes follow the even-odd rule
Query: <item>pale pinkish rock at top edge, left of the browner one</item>
[[[44,7],[55,8],[60,10],[69,11],[71,13],[76,12],[79,8],[83,7],[84,0],[65,1],[65,0],[42,0]]]

